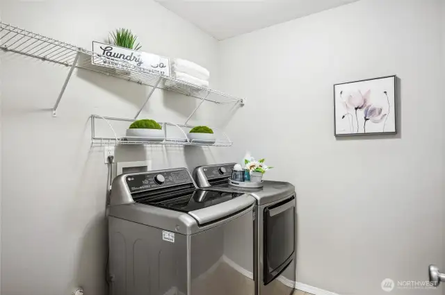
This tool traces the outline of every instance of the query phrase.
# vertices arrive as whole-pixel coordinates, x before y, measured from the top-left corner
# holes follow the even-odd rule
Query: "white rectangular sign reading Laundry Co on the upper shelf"
[[[95,41],[92,42],[92,52],[106,57],[93,57],[93,65],[102,65],[104,67],[114,67],[117,69],[136,69],[147,73],[170,76],[170,60],[163,56]],[[108,58],[112,58],[113,60],[109,60]],[[115,60],[118,62],[115,62]]]

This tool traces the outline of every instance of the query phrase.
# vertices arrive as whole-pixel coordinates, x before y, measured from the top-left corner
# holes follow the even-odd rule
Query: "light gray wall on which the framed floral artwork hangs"
[[[296,185],[298,282],[386,294],[384,278],[426,280],[442,262],[441,2],[362,0],[220,43],[223,87],[249,98],[229,153]],[[332,85],[391,74],[398,135],[336,139]]]

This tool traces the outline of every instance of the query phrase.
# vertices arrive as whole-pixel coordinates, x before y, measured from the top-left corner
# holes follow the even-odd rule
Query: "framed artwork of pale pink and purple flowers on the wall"
[[[396,76],[334,85],[334,135],[397,133]]]

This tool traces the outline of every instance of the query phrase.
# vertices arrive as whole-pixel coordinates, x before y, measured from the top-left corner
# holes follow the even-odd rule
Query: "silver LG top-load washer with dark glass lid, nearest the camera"
[[[111,294],[254,294],[254,203],[248,194],[197,189],[185,168],[116,177]]]

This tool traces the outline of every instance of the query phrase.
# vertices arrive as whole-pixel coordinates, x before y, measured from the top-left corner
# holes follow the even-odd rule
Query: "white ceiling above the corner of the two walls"
[[[358,0],[156,0],[218,40]]]

